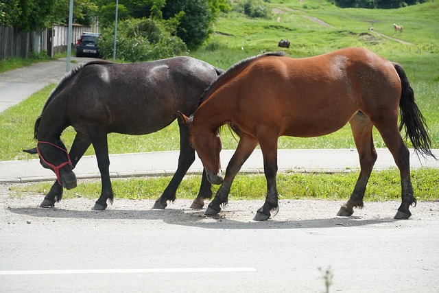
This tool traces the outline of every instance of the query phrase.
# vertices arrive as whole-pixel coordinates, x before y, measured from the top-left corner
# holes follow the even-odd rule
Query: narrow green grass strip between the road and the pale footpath
[[[278,174],[277,184],[281,199],[326,199],[348,200],[357,172],[342,174]],[[152,199],[161,196],[170,177],[128,178],[112,180],[116,198],[133,200]],[[198,194],[201,176],[186,176],[177,191],[177,198],[193,199]],[[414,193],[418,200],[438,200],[439,170],[416,169],[412,171]],[[21,196],[27,193],[47,194],[52,183],[32,183],[10,187],[13,194]],[[98,180],[79,180],[78,187],[64,190],[64,198],[85,197],[97,199],[100,194]],[[214,187],[214,191],[217,190]],[[230,200],[263,200],[266,191],[265,176],[238,175],[230,190]],[[401,183],[397,169],[372,172],[365,200],[385,201],[401,200]]]

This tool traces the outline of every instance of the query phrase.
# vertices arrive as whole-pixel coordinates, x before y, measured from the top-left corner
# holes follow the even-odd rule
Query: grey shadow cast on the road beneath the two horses
[[[291,228],[335,228],[361,226],[364,228],[399,228],[404,224],[392,218],[360,219],[334,217],[307,220],[276,220],[276,217],[265,222],[252,221],[252,214],[243,211],[222,211],[221,215],[207,217],[204,210],[192,209],[150,209],[150,210],[112,210],[106,211],[73,211],[69,209],[45,209],[37,207],[8,208],[11,213],[28,215],[49,220],[75,219],[78,224],[97,220],[135,220],[139,224],[150,221],[161,221],[166,224],[191,226],[209,229],[291,229]]]

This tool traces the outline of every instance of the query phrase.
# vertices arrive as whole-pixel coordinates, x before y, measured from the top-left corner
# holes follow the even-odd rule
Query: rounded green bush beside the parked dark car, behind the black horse
[[[170,22],[154,19],[122,21],[117,29],[116,56],[126,62],[140,62],[169,58],[187,51],[185,43],[174,36],[175,27]],[[102,32],[99,47],[103,58],[112,58],[114,29]]]

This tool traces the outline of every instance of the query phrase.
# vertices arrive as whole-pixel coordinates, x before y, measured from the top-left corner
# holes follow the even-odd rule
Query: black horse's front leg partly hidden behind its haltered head
[[[71,146],[69,156],[73,167],[78,164],[78,161],[82,158],[91,141],[86,134],[77,133],[73,145]],[[43,202],[40,203],[40,207],[54,207],[55,202],[59,202],[62,198],[62,185],[55,181],[54,185],[50,188],[49,193],[45,196]]]

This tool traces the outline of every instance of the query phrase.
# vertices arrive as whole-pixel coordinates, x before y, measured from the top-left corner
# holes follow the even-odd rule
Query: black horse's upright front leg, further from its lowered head
[[[101,183],[102,191],[101,196],[95,202],[93,209],[103,210],[107,207],[107,200],[112,200],[114,194],[112,192],[111,180],[110,180],[110,158],[108,156],[108,141],[106,132],[95,132],[91,135],[91,143],[93,143],[93,148],[95,148],[97,167],[99,167],[99,172],[101,173]]]

